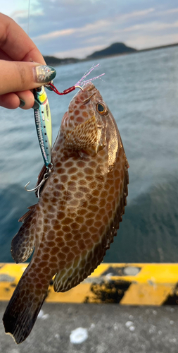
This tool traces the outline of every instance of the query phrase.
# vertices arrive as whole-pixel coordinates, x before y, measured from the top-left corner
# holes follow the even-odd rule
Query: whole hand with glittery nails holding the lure
[[[30,90],[44,85],[56,76],[54,68],[46,66],[42,54],[24,30],[2,13],[0,71],[0,105],[8,109],[19,106],[22,109],[32,108],[34,95]]]

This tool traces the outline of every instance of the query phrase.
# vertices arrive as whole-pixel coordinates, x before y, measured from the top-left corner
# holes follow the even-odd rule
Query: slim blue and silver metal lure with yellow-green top
[[[37,136],[46,167],[51,164],[52,127],[49,101],[44,86],[34,90],[34,98],[39,103],[39,108],[34,109],[34,120]]]

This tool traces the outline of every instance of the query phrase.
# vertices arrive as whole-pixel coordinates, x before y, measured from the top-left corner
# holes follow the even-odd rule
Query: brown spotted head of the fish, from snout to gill
[[[61,131],[65,147],[96,155],[106,145],[108,106],[89,82],[71,100],[63,116]]]

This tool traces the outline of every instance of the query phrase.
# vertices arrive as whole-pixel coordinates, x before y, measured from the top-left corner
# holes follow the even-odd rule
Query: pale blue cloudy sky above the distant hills
[[[135,49],[178,43],[177,0],[0,1],[43,55],[84,58],[114,42]]]

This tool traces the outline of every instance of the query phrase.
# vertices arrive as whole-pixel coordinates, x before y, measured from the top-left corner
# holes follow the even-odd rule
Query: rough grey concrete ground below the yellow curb
[[[2,318],[7,302],[0,302]],[[72,343],[71,333],[85,337]],[[80,336],[80,337],[79,337]],[[177,306],[44,303],[25,342],[16,345],[0,323],[1,353],[177,353]]]

